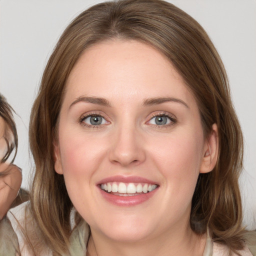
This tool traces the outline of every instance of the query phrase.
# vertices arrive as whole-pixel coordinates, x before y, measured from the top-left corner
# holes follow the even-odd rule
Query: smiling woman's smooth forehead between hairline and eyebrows
[[[118,95],[125,101],[166,93],[191,100],[182,77],[160,51],[135,40],[111,40],[81,54],[68,76],[65,99]]]

